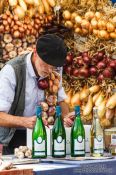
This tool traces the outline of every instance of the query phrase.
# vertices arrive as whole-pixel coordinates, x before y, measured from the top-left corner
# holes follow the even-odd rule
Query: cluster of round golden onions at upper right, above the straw
[[[104,19],[103,14],[98,11],[88,11],[84,16],[80,16],[77,12],[71,13],[69,10],[64,10],[62,16],[65,27],[73,29],[78,35],[93,34],[104,40],[116,39],[116,16]]]

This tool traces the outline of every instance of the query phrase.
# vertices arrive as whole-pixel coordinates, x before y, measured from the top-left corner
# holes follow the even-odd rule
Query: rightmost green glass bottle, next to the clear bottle
[[[71,128],[71,156],[85,156],[85,129],[80,117],[80,106],[75,106],[75,120]]]

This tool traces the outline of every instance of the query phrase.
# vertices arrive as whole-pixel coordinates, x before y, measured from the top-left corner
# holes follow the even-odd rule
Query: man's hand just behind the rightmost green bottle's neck
[[[64,125],[66,127],[71,127],[74,122],[75,112],[70,112],[68,115],[64,116]]]

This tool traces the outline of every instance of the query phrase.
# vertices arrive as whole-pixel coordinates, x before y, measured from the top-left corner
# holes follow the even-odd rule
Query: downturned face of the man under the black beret
[[[35,53],[34,57],[35,57],[34,58],[35,69],[36,69],[39,76],[46,77],[55,69],[54,66],[51,66],[51,65],[47,64],[46,62],[44,62],[38,56],[37,53]]]

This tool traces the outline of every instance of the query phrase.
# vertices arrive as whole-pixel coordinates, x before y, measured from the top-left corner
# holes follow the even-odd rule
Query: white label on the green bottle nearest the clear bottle
[[[82,136],[78,136],[74,139],[74,153],[75,154],[85,154],[85,139]]]

